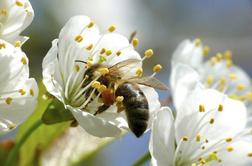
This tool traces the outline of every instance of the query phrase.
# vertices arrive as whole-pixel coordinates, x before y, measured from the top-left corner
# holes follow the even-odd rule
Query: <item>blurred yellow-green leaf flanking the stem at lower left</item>
[[[42,96],[46,90],[42,83],[39,86],[40,95],[38,105],[33,114],[19,128],[16,141],[19,141],[24,133],[39,119],[41,119],[52,99],[44,99]],[[39,165],[41,154],[58,139],[70,126],[69,122],[59,123],[55,125],[42,124],[34,133],[27,139],[19,152],[19,166]]]

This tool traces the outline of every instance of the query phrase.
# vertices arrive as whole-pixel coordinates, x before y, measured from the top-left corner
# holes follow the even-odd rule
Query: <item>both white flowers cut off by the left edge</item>
[[[28,58],[20,33],[34,17],[28,0],[0,2],[0,133],[7,132],[33,112],[38,95],[35,79],[29,78]]]

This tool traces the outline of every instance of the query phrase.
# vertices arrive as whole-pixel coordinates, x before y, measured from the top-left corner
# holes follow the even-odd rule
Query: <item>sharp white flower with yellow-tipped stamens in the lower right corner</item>
[[[172,112],[163,108],[153,120],[150,140],[154,166],[249,166],[251,130],[245,105],[201,84]]]

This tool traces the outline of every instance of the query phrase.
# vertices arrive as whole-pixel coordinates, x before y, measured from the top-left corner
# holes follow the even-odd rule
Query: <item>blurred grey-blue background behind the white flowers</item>
[[[252,0],[30,0],[36,17],[24,32],[30,36],[24,50],[30,59],[30,73],[41,79],[41,62],[65,22],[74,15],[90,16],[106,30],[129,36],[137,31],[138,50],[153,48],[155,56],[145,61],[145,69],[160,63],[158,77],[168,84],[170,58],[185,38],[200,38],[211,53],[230,49],[236,64],[252,73]],[[167,94],[161,94],[161,98]],[[81,139],[79,140],[81,141]],[[102,148],[79,165],[126,166],[148,150],[149,134],[136,139],[128,134]],[[78,141],[77,141],[78,143]]]

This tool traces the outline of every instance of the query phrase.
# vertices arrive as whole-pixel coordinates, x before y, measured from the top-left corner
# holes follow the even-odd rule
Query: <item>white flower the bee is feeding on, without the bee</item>
[[[106,74],[109,67],[127,59],[140,61],[122,67],[122,79],[142,73],[140,55],[127,38],[114,31],[115,26],[111,26],[108,32],[100,34],[90,18],[75,16],[63,27],[59,39],[53,41],[52,48],[43,60],[43,82],[48,92],[73,113],[88,133],[99,137],[116,136],[122,129],[128,129],[125,113],[118,113],[116,104],[103,113],[94,115],[103,104],[99,102],[102,89],[107,88],[98,82],[101,74]],[[146,55],[151,55],[151,51]],[[97,75],[85,73],[95,64],[106,67],[95,72]],[[149,111],[159,108],[158,94],[154,89],[142,85],[140,88],[149,102]]]

